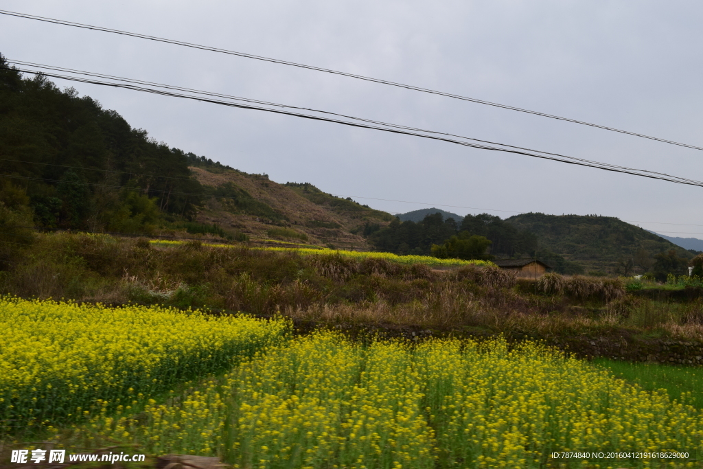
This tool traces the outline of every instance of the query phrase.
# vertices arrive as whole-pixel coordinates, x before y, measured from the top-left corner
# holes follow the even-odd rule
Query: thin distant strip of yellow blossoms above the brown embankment
[[[154,245],[181,245],[183,241],[171,241],[171,240],[153,240],[151,241]],[[233,245],[229,244],[207,244],[208,246],[214,248],[232,248]],[[386,259],[389,262],[396,262],[397,264],[427,264],[434,266],[493,266],[495,265],[490,261],[482,260],[472,260],[464,261],[461,259],[438,259],[432,256],[418,256],[418,255],[406,255],[400,256],[392,254],[391,252],[362,252],[362,251],[347,251],[347,250],[333,250],[333,249],[314,249],[314,248],[254,248],[262,249],[266,251],[275,252],[297,252],[304,256],[314,256],[314,255],[340,255],[344,257],[352,257],[354,259]]]

